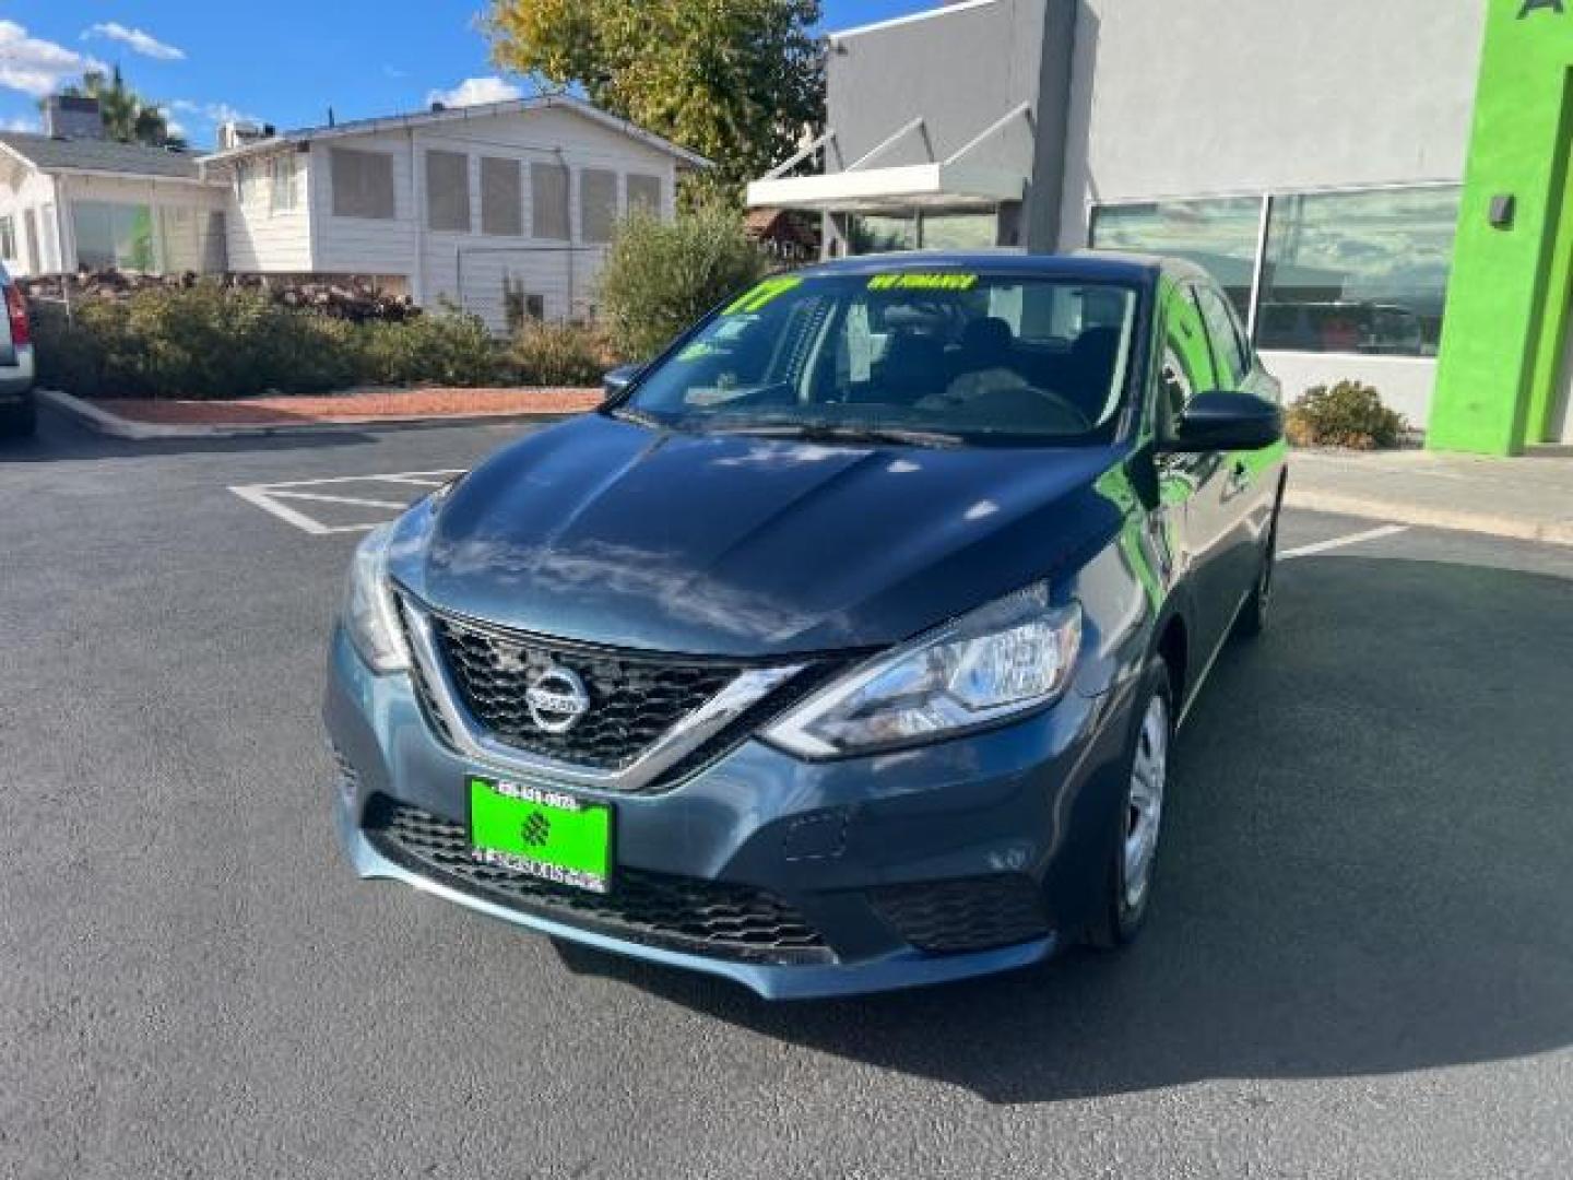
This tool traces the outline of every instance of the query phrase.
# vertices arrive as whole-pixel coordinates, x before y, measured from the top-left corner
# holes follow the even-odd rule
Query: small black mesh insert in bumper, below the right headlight
[[[1043,894],[1021,873],[881,886],[868,900],[901,938],[934,953],[1008,947],[1049,935]]]

